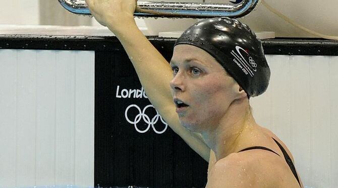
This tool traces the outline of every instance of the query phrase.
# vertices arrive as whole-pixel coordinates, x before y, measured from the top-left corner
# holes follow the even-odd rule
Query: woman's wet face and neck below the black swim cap
[[[239,151],[241,135],[255,124],[248,117],[245,91],[206,51],[187,44],[175,46],[171,60],[174,78],[170,82],[180,124],[200,133],[205,144],[221,159]]]

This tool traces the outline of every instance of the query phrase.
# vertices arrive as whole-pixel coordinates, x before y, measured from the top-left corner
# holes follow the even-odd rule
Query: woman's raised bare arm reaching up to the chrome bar
[[[134,12],[135,0],[86,0],[91,14],[107,26],[122,43],[147,96],[166,123],[205,160],[210,149],[201,135],[184,128],[175,112],[170,92],[172,69],[164,57],[138,29]]]

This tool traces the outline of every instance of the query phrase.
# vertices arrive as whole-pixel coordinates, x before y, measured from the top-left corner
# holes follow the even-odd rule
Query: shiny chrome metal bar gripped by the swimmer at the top
[[[85,0],[58,0],[68,11],[90,15]],[[249,14],[260,0],[243,0],[239,4],[219,3],[177,3],[138,1],[134,16],[137,17],[178,17],[178,18],[239,18]]]

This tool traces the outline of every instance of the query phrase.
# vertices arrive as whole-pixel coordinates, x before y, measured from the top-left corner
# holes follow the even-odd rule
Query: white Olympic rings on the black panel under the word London
[[[128,111],[130,108],[136,108],[138,111],[139,111],[139,114],[135,116],[134,118],[134,121],[131,121],[129,118],[128,118]],[[152,107],[153,109],[155,109],[152,105],[148,105],[146,107],[144,107],[144,109],[141,111],[141,108],[138,107],[137,105],[130,105],[129,107],[127,107],[126,111],[125,111],[125,117],[126,117],[126,120],[128,123],[130,124],[133,124],[136,131],[139,132],[139,133],[145,133],[149,130],[150,127],[152,127],[152,129],[154,130],[155,133],[157,134],[162,134],[165,132],[165,130],[167,129],[168,127],[168,124],[165,123],[165,121],[162,119],[162,117],[158,114],[157,110],[155,109],[156,111],[156,115],[151,118],[150,120],[150,117],[148,115],[145,114],[145,111],[149,108],[149,107]],[[145,130],[140,130],[138,127],[137,127],[137,124],[141,121],[141,119],[143,119],[143,121],[145,123],[148,124],[148,127],[145,129]],[[165,125],[165,128],[162,130],[162,131],[158,131],[156,130],[155,128],[155,124],[157,123],[158,119],[161,120],[161,122]]]

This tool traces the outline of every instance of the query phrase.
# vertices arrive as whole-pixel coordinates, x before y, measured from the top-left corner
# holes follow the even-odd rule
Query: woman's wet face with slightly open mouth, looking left
[[[217,126],[236,97],[237,82],[209,53],[192,45],[175,46],[170,64],[181,124],[196,132]]]

